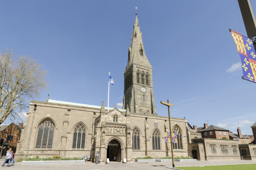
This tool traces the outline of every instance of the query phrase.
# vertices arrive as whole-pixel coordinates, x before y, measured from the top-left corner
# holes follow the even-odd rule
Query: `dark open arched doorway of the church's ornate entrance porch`
[[[107,158],[109,161],[121,162],[121,144],[115,139],[108,143]]]

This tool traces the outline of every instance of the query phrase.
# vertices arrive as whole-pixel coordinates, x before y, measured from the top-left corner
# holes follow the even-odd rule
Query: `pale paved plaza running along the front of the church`
[[[4,161],[4,160],[2,160]],[[2,164],[2,162],[1,162]],[[223,161],[196,161],[196,162],[175,162],[178,166],[210,166],[210,165],[234,165],[234,164],[256,164],[256,161],[248,160],[223,160]],[[7,165],[7,164],[6,164]],[[95,164],[85,162],[84,165],[30,165],[24,166],[22,162],[16,162],[15,166],[0,166],[0,169],[8,170],[167,170],[172,169],[172,162],[150,162],[137,163],[129,162],[126,164],[110,162],[110,164]]]

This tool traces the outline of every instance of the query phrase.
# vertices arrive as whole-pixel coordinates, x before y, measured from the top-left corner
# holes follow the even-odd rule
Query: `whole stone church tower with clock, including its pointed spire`
[[[124,80],[123,109],[126,109],[128,105],[130,113],[154,114],[156,105],[153,92],[152,66],[145,54],[137,13]]]

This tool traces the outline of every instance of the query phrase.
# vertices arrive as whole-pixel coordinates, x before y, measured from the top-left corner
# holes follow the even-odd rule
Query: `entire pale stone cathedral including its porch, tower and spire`
[[[152,66],[145,54],[137,14],[124,80],[123,108],[110,108],[109,112],[104,102],[93,106],[51,99],[31,101],[15,157],[91,155],[94,159],[99,151],[100,162],[106,158],[121,162],[123,158],[170,156],[170,144],[165,143],[164,136],[170,131],[169,118],[156,113]],[[189,141],[201,135],[186,119],[171,121],[171,131],[178,133],[174,156],[188,156]]]

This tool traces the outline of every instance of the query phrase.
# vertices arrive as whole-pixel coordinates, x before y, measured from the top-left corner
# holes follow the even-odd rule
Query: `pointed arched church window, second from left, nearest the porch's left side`
[[[74,129],[73,149],[84,149],[85,145],[85,127],[80,123]]]

